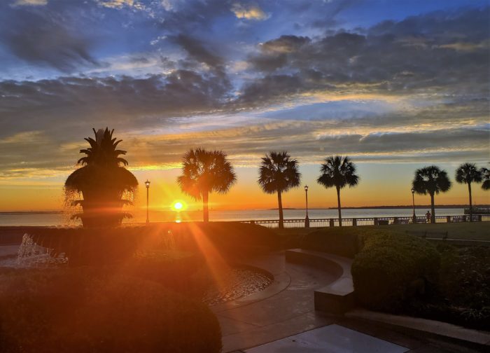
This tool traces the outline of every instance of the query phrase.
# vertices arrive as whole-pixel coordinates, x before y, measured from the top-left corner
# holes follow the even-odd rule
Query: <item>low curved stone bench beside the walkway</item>
[[[286,250],[286,261],[311,265],[336,277],[335,281],[316,289],[315,310],[343,314],[354,306],[354,287],[351,275],[352,260],[320,251]]]

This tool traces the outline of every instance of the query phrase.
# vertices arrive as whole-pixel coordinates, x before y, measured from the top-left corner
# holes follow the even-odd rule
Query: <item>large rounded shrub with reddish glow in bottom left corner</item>
[[[0,352],[220,352],[208,307],[86,268],[0,273]]]

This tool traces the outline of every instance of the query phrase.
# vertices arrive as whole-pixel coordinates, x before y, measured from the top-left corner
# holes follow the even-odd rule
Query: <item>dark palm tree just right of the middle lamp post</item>
[[[316,180],[318,184],[325,188],[337,189],[337,207],[339,209],[339,226],[342,226],[342,207],[340,206],[340,189],[345,186],[350,188],[359,183],[359,176],[356,175],[356,165],[351,159],[342,155],[331,155],[325,158],[325,163],[320,167],[321,175]]]

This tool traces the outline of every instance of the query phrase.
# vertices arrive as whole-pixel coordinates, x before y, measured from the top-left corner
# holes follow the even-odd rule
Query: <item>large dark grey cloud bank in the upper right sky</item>
[[[365,34],[281,36],[251,56],[255,79],[246,83],[240,99],[260,104],[316,90],[359,93],[366,85],[372,93],[391,95],[442,90],[468,95],[470,89],[486,96],[488,77],[481,73],[490,69],[489,17],[486,7],[381,22]]]

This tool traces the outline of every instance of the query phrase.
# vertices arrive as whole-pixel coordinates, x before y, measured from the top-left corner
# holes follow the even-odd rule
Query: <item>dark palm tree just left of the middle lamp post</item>
[[[297,160],[286,152],[269,152],[262,158],[259,168],[258,184],[264,193],[277,193],[279,203],[279,228],[284,228],[282,212],[282,193],[300,185],[301,174]]]

